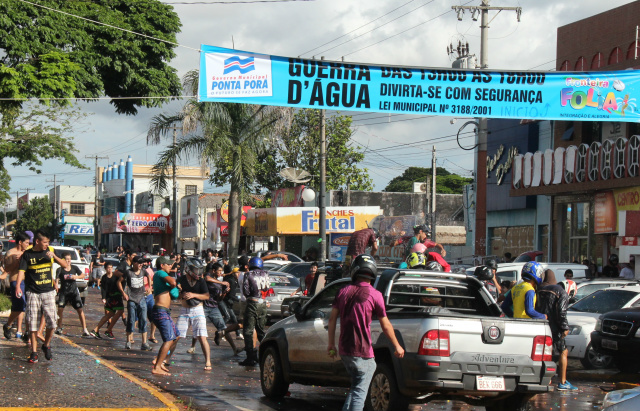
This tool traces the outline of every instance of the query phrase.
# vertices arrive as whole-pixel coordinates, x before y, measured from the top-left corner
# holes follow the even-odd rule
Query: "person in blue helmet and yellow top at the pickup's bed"
[[[547,316],[536,311],[536,289],[542,284],[544,270],[535,261],[522,267],[522,282],[511,289],[502,303],[502,311],[513,318],[546,320]],[[513,311],[511,311],[513,307]],[[510,315],[513,314],[513,315]]]

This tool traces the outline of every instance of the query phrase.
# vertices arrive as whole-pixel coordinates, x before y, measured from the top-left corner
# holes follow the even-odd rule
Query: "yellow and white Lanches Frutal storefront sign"
[[[351,233],[367,228],[380,213],[380,207],[327,207],[327,233]],[[317,234],[317,207],[272,207],[249,211],[247,234]]]

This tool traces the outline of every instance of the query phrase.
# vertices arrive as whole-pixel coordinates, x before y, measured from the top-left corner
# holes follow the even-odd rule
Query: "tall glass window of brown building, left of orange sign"
[[[595,237],[593,235],[593,207],[590,203],[563,205],[561,262],[581,262],[589,259]]]

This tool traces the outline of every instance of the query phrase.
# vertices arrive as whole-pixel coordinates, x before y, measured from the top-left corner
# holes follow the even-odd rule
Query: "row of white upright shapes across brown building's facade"
[[[534,161],[537,153],[514,157],[514,189],[640,176],[640,135],[590,146],[558,147],[540,153],[541,161]],[[533,178],[537,173],[543,178]]]

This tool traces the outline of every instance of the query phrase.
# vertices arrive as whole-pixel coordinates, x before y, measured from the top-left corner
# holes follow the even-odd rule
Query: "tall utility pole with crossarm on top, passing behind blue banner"
[[[471,12],[471,18],[478,20],[480,14],[480,70],[489,67],[489,10],[496,10],[500,13],[503,10],[515,11],[518,21],[522,14],[522,7],[491,7],[490,0],[481,0],[480,6],[452,6],[458,15],[458,20],[462,21],[465,10]],[[496,14],[497,15],[497,14]],[[495,18],[495,17],[494,17]],[[476,173],[476,235],[475,254],[485,255],[487,253],[487,118],[478,119],[478,157]]]

